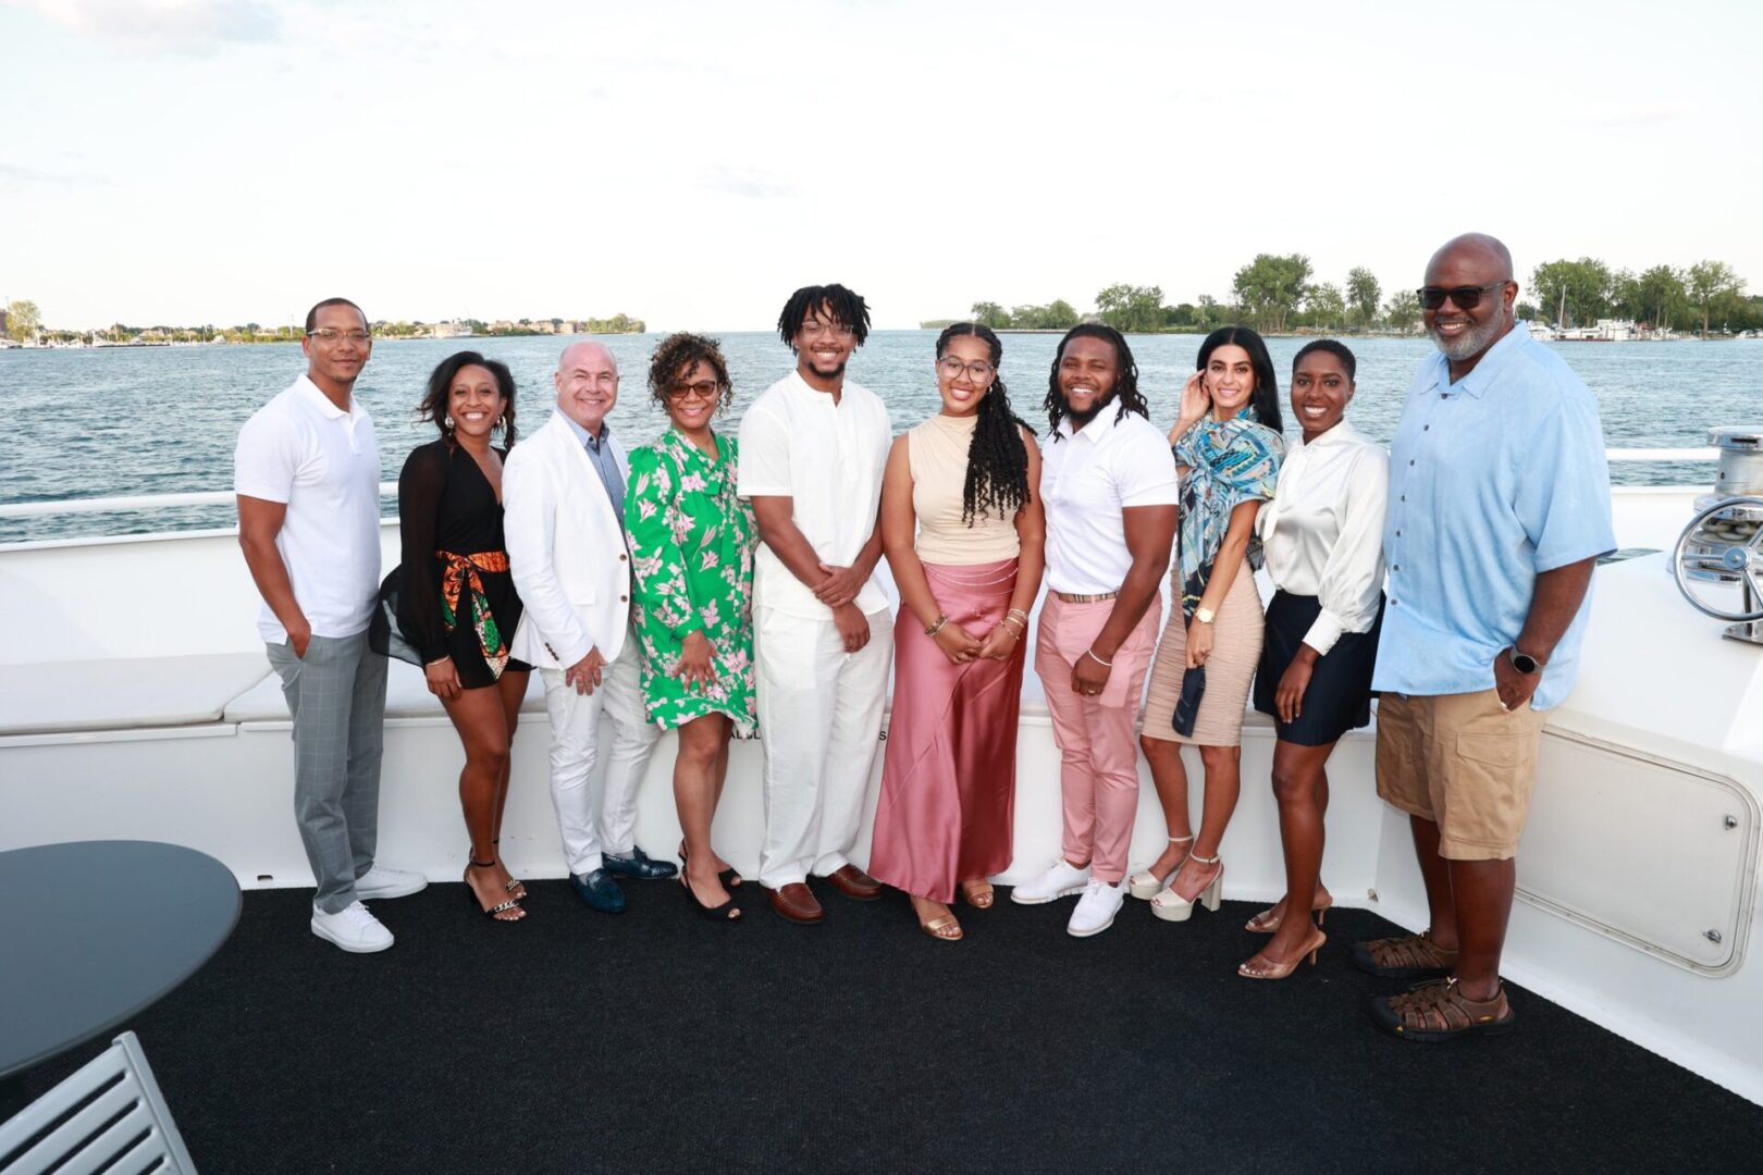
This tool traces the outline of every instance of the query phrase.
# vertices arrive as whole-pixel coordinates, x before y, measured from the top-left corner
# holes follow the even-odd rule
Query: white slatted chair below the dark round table
[[[196,1171],[134,1032],[0,1124],[0,1175],[49,1168],[55,1175]]]

